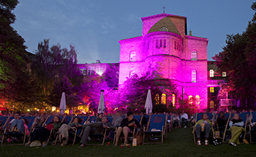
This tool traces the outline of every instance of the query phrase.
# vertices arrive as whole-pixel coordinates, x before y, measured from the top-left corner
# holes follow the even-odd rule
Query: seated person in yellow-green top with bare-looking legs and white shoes
[[[214,121],[212,122],[212,125],[214,125]],[[197,145],[201,145],[200,140],[200,134],[201,131],[206,131],[206,140],[205,145],[208,145],[208,137],[210,135],[211,131],[211,121],[208,119],[208,115],[206,113],[203,113],[202,119],[198,120],[197,123],[195,123],[195,133],[197,136]]]

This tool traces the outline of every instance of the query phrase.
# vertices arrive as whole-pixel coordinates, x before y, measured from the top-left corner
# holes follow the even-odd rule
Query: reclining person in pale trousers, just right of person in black
[[[81,123],[80,118],[75,118],[73,122],[70,125],[62,124],[59,128],[59,141],[61,141],[61,146],[67,145],[67,142],[69,140],[69,130],[72,128],[75,128],[75,125],[79,125]]]

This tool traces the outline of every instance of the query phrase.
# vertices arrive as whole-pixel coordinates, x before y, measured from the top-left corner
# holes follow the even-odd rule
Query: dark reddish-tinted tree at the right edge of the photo
[[[256,3],[252,4],[256,11]],[[227,86],[233,87],[235,98],[251,99],[256,96],[256,13],[242,34],[227,35],[223,51],[213,57],[220,72],[227,72]],[[244,103],[243,103],[244,102]]]

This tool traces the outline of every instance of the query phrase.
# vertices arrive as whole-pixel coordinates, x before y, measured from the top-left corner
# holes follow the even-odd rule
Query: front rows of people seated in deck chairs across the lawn
[[[206,110],[206,112],[211,112],[211,110]],[[231,110],[231,112],[234,114],[233,118],[228,123],[228,126],[230,127],[230,139],[229,144],[236,146],[239,145],[239,137],[244,131],[244,122],[242,118],[239,117],[239,114],[237,110]],[[246,112],[246,110],[243,110],[242,112]],[[108,121],[108,117],[104,114],[98,114],[97,117],[94,119],[94,123],[81,123],[81,119],[79,116],[75,116],[72,123],[65,124],[61,123],[61,118],[59,117],[59,113],[55,114],[45,114],[45,113],[37,113],[34,114],[34,116],[37,116],[37,118],[34,119],[34,126],[35,129],[33,131],[29,131],[28,128],[28,121],[26,118],[20,119],[20,113],[17,112],[13,115],[13,119],[8,123],[8,132],[25,132],[26,135],[29,136],[29,142],[26,142],[26,145],[30,145],[33,141],[39,141],[42,143],[42,147],[45,147],[46,140],[50,136],[50,131],[53,129],[54,133],[59,133],[59,142],[61,142],[61,146],[67,145],[68,139],[69,139],[69,131],[75,130],[75,129],[83,129],[82,138],[80,139],[80,146],[79,148],[86,147],[87,142],[90,139],[91,134],[102,134],[105,129],[110,130],[116,130],[116,142],[115,145],[118,145],[118,139],[121,135],[124,135],[124,144],[127,145],[128,143],[128,134],[129,132],[132,132],[132,130],[135,127],[140,128],[140,123],[138,120],[133,118],[132,112],[127,112],[127,117],[124,118],[123,113],[120,111],[117,111],[115,115],[115,120],[113,120],[113,123],[110,123]],[[45,124],[45,120],[48,116],[54,115],[53,121],[50,123]],[[200,120],[195,121],[195,115],[188,114],[185,111],[182,111],[181,113],[175,112],[170,113],[171,115],[171,125],[173,125],[174,128],[178,127],[184,127],[187,128],[189,123],[195,123],[193,127],[195,127],[195,135],[197,138],[197,145],[201,145],[201,131],[205,131],[206,139],[205,139],[205,145],[209,144],[209,135],[210,131],[212,130],[211,126],[213,126],[214,129],[217,129],[218,131],[223,132],[225,131],[225,126],[227,124],[227,116],[225,116],[225,112],[219,112],[214,119],[209,119],[207,114],[203,114],[202,118]],[[29,117],[32,116],[29,113],[26,113],[25,116]],[[142,120],[142,125],[144,124],[144,117]],[[45,124],[45,125],[43,125]],[[256,123],[251,123],[252,127],[255,127]],[[55,130],[58,129],[58,130]],[[56,131],[56,132],[55,132]]]

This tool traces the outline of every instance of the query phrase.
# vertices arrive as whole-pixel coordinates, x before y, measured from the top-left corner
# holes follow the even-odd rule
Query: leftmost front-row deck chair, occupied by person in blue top
[[[34,118],[36,117],[20,117],[20,120],[23,119],[23,118],[26,118],[26,120],[28,120],[28,129],[30,130],[31,129],[31,126],[32,124],[34,123]],[[4,134],[3,134],[3,137],[2,137],[2,140],[1,140],[1,145],[4,145],[4,141],[5,141],[5,138],[10,138],[12,139],[13,141],[17,141],[16,138],[22,138],[23,139],[23,143],[21,144],[13,144],[13,145],[24,145],[25,142],[26,142],[26,131],[27,129],[24,130],[24,132],[20,132],[20,133],[8,133],[7,132],[7,128],[4,130]]]

